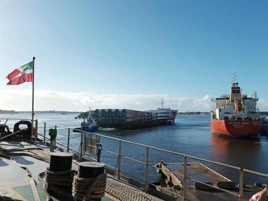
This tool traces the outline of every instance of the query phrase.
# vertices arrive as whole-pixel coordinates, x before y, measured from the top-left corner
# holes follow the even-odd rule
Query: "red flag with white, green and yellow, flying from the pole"
[[[33,61],[11,72],[7,78],[10,80],[7,85],[18,85],[24,82],[33,81]]]

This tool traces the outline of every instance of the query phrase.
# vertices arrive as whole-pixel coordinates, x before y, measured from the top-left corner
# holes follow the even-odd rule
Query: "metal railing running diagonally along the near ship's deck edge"
[[[6,123],[8,122],[8,120],[9,119],[7,119]],[[13,119],[13,120],[15,120],[15,119]],[[17,119],[17,120],[21,120],[21,119]],[[31,121],[31,120],[29,120],[29,121]],[[43,123],[44,126],[41,127],[39,125],[40,123]],[[236,167],[236,166],[232,166],[232,165],[228,165],[228,164],[224,164],[224,163],[219,163],[219,162],[216,162],[216,161],[211,161],[211,160],[207,160],[207,159],[203,159],[203,158],[199,158],[199,157],[195,157],[195,156],[191,156],[191,155],[186,155],[186,154],[182,154],[182,153],[178,153],[178,152],[174,152],[174,151],[169,151],[169,150],[166,150],[166,149],[152,147],[152,146],[148,146],[148,145],[144,145],[144,144],[140,144],[140,143],[135,143],[135,142],[130,142],[130,141],[126,141],[126,140],[121,140],[121,139],[117,139],[117,138],[113,138],[113,137],[109,137],[109,136],[105,136],[105,135],[100,135],[100,134],[95,134],[95,133],[81,132],[81,138],[80,138],[80,141],[78,141],[78,140],[72,139],[71,136],[70,136],[71,130],[75,130],[75,129],[64,127],[64,126],[60,126],[60,125],[56,125],[56,124],[46,123],[46,122],[42,122],[42,121],[38,121],[38,120],[35,120],[35,125],[36,125],[36,133],[38,133],[38,131],[42,131],[40,128],[43,128],[44,129],[43,130],[43,135],[41,135],[41,132],[39,132],[39,134],[38,134],[39,136],[42,136],[42,139],[41,140],[42,140],[42,142],[44,144],[46,144],[46,141],[49,140],[49,138],[46,137],[48,125],[54,126],[55,129],[57,129],[57,128],[66,129],[67,130],[67,137],[62,136],[62,135],[57,135],[57,138],[58,137],[61,137],[62,139],[66,139],[67,140],[67,145],[64,146],[63,144],[60,144],[59,142],[56,142],[56,140],[55,140],[55,147],[56,147],[56,145],[58,145],[60,147],[63,147],[63,150],[66,151],[66,152],[72,151],[72,153],[76,153],[77,156],[79,156],[80,159],[84,157],[84,158],[88,158],[90,160],[95,161],[94,158],[90,158],[87,155],[85,155],[85,152],[84,152],[84,147],[85,146],[90,146],[92,148],[95,148],[94,146],[85,143],[85,141],[84,141],[85,138],[84,137],[85,137],[86,134],[88,134],[90,136],[95,135],[96,139],[98,139],[98,138],[100,139],[100,137],[102,137],[102,138],[105,138],[105,139],[117,141],[118,142],[118,145],[117,145],[118,152],[117,153],[115,153],[114,151],[106,150],[106,149],[102,150],[102,151],[105,151],[107,153],[110,153],[110,154],[113,154],[113,155],[116,156],[114,158],[114,159],[116,159],[116,165],[115,165],[115,167],[113,167],[113,166],[111,166],[109,164],[105,164],[105,165],[108,166],[108,167],[110,167],[110,168],[112,168],[114,170],[114,175],[117,174],[117,179],[120,180],[121,179],[121,164],[122,164],[121,163],[122,162],[121,159],[122,158],[131,160],[131,161],[135,161],[135,162],[140,163],[140,164],[143,164],[144,165],[144,168],[145,168],[145,170],[144,170],[145,171],[145,178],[144,178],[144,182],[145,182],[144,189],[145,189],[145,192],[148,192],[149,167],[152,167],[152,168],[155,168],[155,169],[159,169],[159,170],[163,170],[163,171],[169,172],[169,173],[174,174],[174,175],[181,176],[183,178],[182,179],[182,182],[181,182],[181,184],[182,184],[182,193],[181,194],[178,194],[178,193],[169,191],[169,190],[167,190],[165,188],[161,188],[159,186],[157,186],[157,187],[158,188],[161,188],[162,190],[166,190],[166,191],[168,191],[170,193],[173,193],[173,194],[175,194],[177,196],[181,196],[182,200],[186,200],[186,198],[187,198],[187,187],[186,187],[187,179],[188,180],[195,181],[195,182],[202,183],[204,185],[213,187],[215,189],[219,189],[219,190],[224,191],[224,192],[228,192],[230,194],[233,194],[233,195],[239,197],[239,199],[242,200],[242,198],[243,198],[243,179],[244,179],[244,172],[247,172],[247,173],[250,173],[250,174],[254,174],[254,175],[258,175],[258,176],[262,176],[262,177],[267,177],[268,178],[268,174],[263,174],[263,173],[251,171],[251,170],[248,170],[248,169],[242,169],[242,168]],[[36,137],[37,137],[37,135],[36,135]],[[73,148],[71,148],[71,143],[77,143],[77,144],[79,144],[78,151],[75,151]],[[143,161],[145,161],[145,162],[143,162],[142,160],[135,159],[135,158],[123,156],[122,155],[122,143],[144,147],[146,149],[146,151],[145,151],[145,160],[143,160]],[[105,146],[103,146],[103,147],[105,147]],[[108,146],[106,146],[106,147],[108,147]],[[181,174],[178,174],[176,172],[169,171],[167,169],[162,169],[160,167],[156,167],[156,166],[150,165],[150,163],[149,163],[149,161],[150,161],[150,150],[161,151],[161,152],[165,152],[165,153],[169,153],[169,154],[174,154],[176,156],[183,157],[183,159],[184,159],[184,174],[181,175]],[[229,191],[229,190],[226,190],[226,189],[218,188],[216,186],[209,185],[209,184],[204,183],[202,181],[198,181],[198,180],[195,180],[195,179],[192,179],[192,178],[188,177],[187,176],[187,163],[188,163],[188,159],[195,159],[195,160],[199,160],[199,161],[203,161],[203,162],[207,162],[207,163],[211,163],[211,164],[215,164],[215,165],[220,165],[220,166],[224,166],[224,167],[228,167],[228,168],[232,168],[232,169],[238,170],[239,171],[239,184],[240,184],[239,185],[239,194],[234,193],[234,192]],[[152,184],[152,185],[153,186],[156,186],[154,184]],[[183,196],[182,196],[182,194],[183,194]]]

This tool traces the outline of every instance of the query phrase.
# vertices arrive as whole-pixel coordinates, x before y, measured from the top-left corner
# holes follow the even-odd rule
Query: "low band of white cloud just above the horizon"
[[[161,107],[178,109],[179,112],[209,112],[213,107],[210,95],[201,98],[173,97],[168,94],[96,94],[87,92],[35,91],[35,110],[87,111],[92,109],[154,110]],[[268,102],[260,99],[261,111],[268,111]],[[0,98],[1,110],[31,111],[31,90],[3,90]]]

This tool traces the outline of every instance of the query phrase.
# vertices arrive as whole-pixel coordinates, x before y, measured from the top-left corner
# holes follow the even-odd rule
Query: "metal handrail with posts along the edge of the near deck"
[[[0,120],[3,120],[3,118],[1,118]],[[25,120],[25,119],[5,119],[7,120],[6,123],[9,121],[9,120]],[[31,121],[31,120],[28,120],[28,121]],[[88,156],[85,155],[85,152],[84,152],[84,147],[85,146],[89,146],[89,147],[92,147],[94,148],[92,145],[88,145],[84,142],[84,136],[85,134],[90,134],[91,135],[95,135],[96,136],[96,139],[99,139],[99,137],[103,137],[103,138],[106,138],[106,139],[111,139],[111,140],[116,140],[118,142],[118,153],[114,153],[112,151],[109,151],[109,150],[103,150],[105,152],[108,152],[108,153],[111,153],[111,154],[115,154],[117,155],[117,162],[116,162],[116,166],[115,167],[112,167],[110,165],[107,164],[108,167],[111,167],[111,168],[114,168],[114,171],[116,171],[116,168],[117,168],[117,179],[120,179],[120,172],[121,172],[121,158],[126,158],[126,159],[129,159],[131,161],[135,161],[135,162],[138,162],[140,164],[143,164],[145,165],[145,191],[148,190],[148,184],[149,184],[149,167],[153,167],[153,168],[156,168],[156,169],[160,169],[160,170],[164,170],[164,171],[167,171],[167,172],[170,172],[174,175],[180,175],[180,176],[183,176],[183,181],[182,181],[182,189],[183,189],[183,200],[185,200],[185,196],[186,195],[186,179],[189,179],[189,180],[192,180],[192,181],[196,181],[196,182],[199,182],[199,183],[202,183],[204,185],[208,185],[210,187],[213,187],[215,189],[220,189],[222,191],[225,191],[225,192],[228,192],[228,193],[231,193],[233,195],[237,195],[239,196],[240,198],[243,197],[243,185],[240,185],[239,186],[239,194],[236,194],[234,192],[231,192],[231,191],[228,191],[228,190],[224,190],[224,189],[221,189],[221,188],[218,188],[218,187],[215,187],[215,186],[211,186],[209,184],[206,184],[206,183],[203,183],[201,181],[198,181],[198,180],[195,180],[195,179],[192,179],[190,177],[187,176],[187,165],[184,165],[184,175],[181,175],[181,174],[178,174],[176,172],[172,172],[172,171],[169,171],[169,170],[166,170],[166,169],[162,169],[162,168],[159,168],[159,167],[156,167],[156,166],[152,166],[149,164],[150,162],[150,156],[149,156],[149,151],[150,149],[152,150],[157,150],[157,151],[161,151],[161,152],[166,152],[166,153],[170,153],[170,154],[174,154],[174,155],[179,155],[179,156],[182,156],[184,158],[184,164],[187,164],[187,159],[188,158],[191,158],[191,159],[195,159],[195,160],[200,160],[200,161],[203,161],[203,162],[208,162],[208,163],[211,163],[211,164],[216,164],[216,165],[221,165],[221,166],[224,166],[224,167],[229,167],[229,168],[232,168],[232,169],[236,169],[236,170],[239,170],[239,177],[240,177],[240,183],[243,183],[243,172],[248,172],[248,173],[251,173],[251,174],[255,174],[255,175],[258,175],[258,176],[263,176],[263,177],[268,177],[268,174],[264,174],[264,173],[260,173],[260,172],[256,172],[256,171],[252,171],[252,170],[248,170],[248,169],[242,169],[240,167],[236,167],[236,166],[233,166],[233,165],[228,165],[228,164],[224,164],[224,163],[220,163],[220,162],[216,162],[216,161],[211,161],[211,160],[207,160],[207,159],[204,159],[204,158],[199,158],[199,157],[195,157],[195,156],[191,156],[191,155],[186,155],[186,154],[182,154],[182,153],[179,153],[179,152],[175,152],[175,151],[169,151],[169,150],[166,150],[166,149],[161,149],[161,148],[157,148],[157,147],[153,147],[153,146],[148,146],[148,145],[144,145],[144,144],[140,144],[140,143],[135,143],[135,142],[131,142],[131,141],[127,141],[127,140],[121,140],[121,139],[117,139],[117,138],[114,138],[114,137],[109,137],[109,136],[105,136],[105,135],[101,135],[101,134],[95,134],[95,133],[90,133],[90,132],[81,132],[81,141],[77,141],[77,140],[74,140],[74,139],[71,139],[70,138],[70,130],[72,128],[69,128],[69,127],[65,127],[65,126],[60,126],[60,125],[56,125],[56,124],[52,124],[52,123],[47,123],[47,122],[42,122],[42,121],[38,121],[38,120],[35,120],[36,121],[36,125],[38,125],[38,123],[44,123],[44,135],[42,136],[41,134],[39,134],[40,136],[42,136],[44,138],[43,140],[43,143],[45,143],[45,140],[48,139],[45,134],[46,134],[46,127],[47,125],[52,125],[54,126],[55,128],[63,128],[63,129],[68,129],[68,137],[65,137],[65,136],[62,136],[62,135],[58,135],[58,136],[61,136],[62,137],[62,140],[64,139],[67,139],[67,146],[65,145],[62,145],[60,144],[59,142],[56,142],[55,141],[55,145],[59,145],[61,147],[64,147],[67,149],[67,152],[69,151],[73,151],[74,153],[77,154],[77,156],[79,157],[86,157],[86,158],[89,158],[93,161],[95,161],[95,159],[93,158],[90,158]],[[37,127],[37,126],[36,126]],[[40,128],[40,126],[39,126]],[[76,129],[72,129],[72,130],[76,130]],[[42,130],[43,131],[43,130]],[[36,131],[37,132],[37,131]],[[73,149],[70,148],[70,142],[77,142],[80,144],[79,146],[79,150],[78,152],[77,151],[74,151]],[[121,149],[121,145],[122,143],[128,143],[128,144],[132,144],[132,145],[137,145],[137,146],[141,146],[141,147],[145,147],[146,148],[146,159],[143,160],[143,161],[146,161],[146,162],[143,162],[142,160],[137,160],[135,158],[131,158],[131,157],[128,157],[128,156],[124,156],[122,155],[122,149]],[[154,185],[154,184],[152,184]],[[177,194],[177,193],[174,193],[174,194]],[[178,194],[177,194],[178,195]]]

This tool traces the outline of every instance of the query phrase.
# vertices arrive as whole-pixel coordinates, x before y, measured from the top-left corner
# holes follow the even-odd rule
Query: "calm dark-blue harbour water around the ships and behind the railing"
[[[35,119],[74,128],[79,126],[82,121],[81,119],[74,119],[77,115],[78,114],[36,114]],[[31,115],[0,114],[0,118],[31,119]],[[8,124],[14,125],[15,122],[17,121],[9,121]],[[3,121],[1,123],[3,123]],[[176,124],[172,126],[159,126],[137,130],[100,129],[97,133],[268,174],[268,170],[266,169],[268,164],[268,137],[236,139],[216,136],[211,134],[210,116],[177,116],[175,123]],[[50,127],[52,126],[47,126],[47,130]],[[42,124],[39,124],[39,133],[41,134],[43,134],[42,129]],[[58,134],[67,136],[67,130],[59,129]],[[72,139],[80,141],[80,134],[71,133],[71,135]],[[67,144],[66,139],[63,137],[58,137],[57,141],[65,145]],[[104,150],[115,153],[118,152],[118,142],[115,140],[101,138],[101,144]],[[78,152],[79,143],[72,143],[72,149]],[[122,143],[123,156],[145,161],[145,154],[146,149],[144,147]],[[165,162],[183,162],[183,158],[180,156],[154,150],[150,151],[151,165],[161,160]],[[101,162],[115,166],[116,156],[102,151]],[[204,162],[201,163],[238,183],[238,170],[232,170]],[[122,159],[121,171],[124,174],[135,177],[137,180],[144,180],[145,165],[128,159]],[[151,182],[157,180],[160,176],[155,172],[154,168],[150,168]],[[254,182],[268,183],[268,179],[251,174],[244,174],[244,183],[249,184]]]

